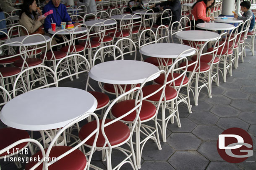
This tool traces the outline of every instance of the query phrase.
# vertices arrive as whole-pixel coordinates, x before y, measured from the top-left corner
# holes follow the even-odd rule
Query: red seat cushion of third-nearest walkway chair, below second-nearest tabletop
[[[135,100],[124,100],[115,104],[111,113],[114,117],[120,117],[123,114],[129,112],[135,107]],[[141,121],[152,118],[157,112],[156,107],[149,101],[142,101],[141,112],[139,114]],[[128,116],[124,117],[122,120],[132,122],[136,117],[136,111],[133,111]]]

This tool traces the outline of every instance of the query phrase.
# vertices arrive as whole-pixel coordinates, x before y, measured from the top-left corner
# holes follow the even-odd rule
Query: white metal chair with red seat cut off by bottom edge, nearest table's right
[[[91,131],[89,132],[88,136],[85,137],[82,140],[77,140],[74,145],[67,146],[67,143],[64,144],[64,146],[56,146],[55,143],[58,140],[58,137],[60,137],[61,134],[63,134],[64,138],[66,138],[66,130],[73,126],[74,124],[78,124],[78,122],[86,119],[87,117],[92,116],[95,119],[95,127],[91,128]],[[79,127],[78,127],[79,128]],[[78,129],[79,131],[79,129]],[[39,169],[49,170],[60,170],[60,169],[68,169],[68,170],[80,170],[81,168],[84,170],[89,170],[91,167],[91,157],[93,152],[95,151],[96,147],[96,141],[98,139],[99,135],[99,119],[95,113],[88,112],[82,114],[80,117],[76,118],[72,122],[65,125],[65,127],[60,128],[57,132],[56,136],[53,138],[52,142],[50,143],[49,147],[45,149],[45,160],[43,162],[43,165],[41,164],[39,166]],[[93,138],[91,140],[90,138]],[[65,140],[64,140],[65,141]],[[90,147],[89,152],[85,152],[84,150],[84,143],[91,141],[92,145]],[[79,150],[81,149],[82,150]],[[34,160],[36,157],[43,157],[42,152],[39,151],[31,156]],[[36,164],[37,162],[29,161],[29,163],[26,164],[25,170],[30,170],[30,168]]]

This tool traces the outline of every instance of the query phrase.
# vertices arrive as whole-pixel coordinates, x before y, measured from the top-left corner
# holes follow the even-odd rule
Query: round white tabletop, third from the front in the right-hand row
[[[152,43],[141,47],[139,52],[146,56],[159,58],[177,58],[180,53],[191,49],[191,46],[176,43]],[[192,56],[196,51],[188,51],[183,56]]]

